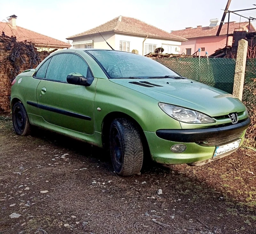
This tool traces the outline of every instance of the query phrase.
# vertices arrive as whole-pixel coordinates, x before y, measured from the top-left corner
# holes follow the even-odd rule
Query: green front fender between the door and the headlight
[[[98,79],[94,101],[95,131],[102,131],[103,121],[110,113],[124,113],[130,116],[138,122],[143,131],[181,128],[179,121],[160,109],[156,99],[108,79]]]

